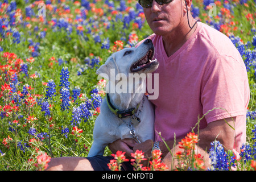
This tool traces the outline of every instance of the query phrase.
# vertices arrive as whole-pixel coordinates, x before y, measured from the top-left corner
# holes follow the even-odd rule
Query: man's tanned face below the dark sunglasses
[[[174,0],[167,5],[152,2],[151,8],[144,8],[144,14],[151,30],[157,35],[166,35],[179,26],[184,16],[180,0]]]

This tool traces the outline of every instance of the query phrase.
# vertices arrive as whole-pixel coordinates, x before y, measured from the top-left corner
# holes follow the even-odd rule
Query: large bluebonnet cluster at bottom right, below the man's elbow
[[[212,160],[210,163],[212,167],[209,170],[212,171],[226,171],[229,167],[233,166],[234,156],[231,156],[230,160],[228,154],[224,151],[222,144],[219,141],[214,141],[210,143],[212,146],[210,148],[209,157]]]

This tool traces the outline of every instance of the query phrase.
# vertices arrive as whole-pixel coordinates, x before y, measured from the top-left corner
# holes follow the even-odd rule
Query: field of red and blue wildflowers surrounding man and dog
[[[229,36],[245,61],[251,92],[247,142],[239,160],[213,141],[210,168],[204,168],[200,155],[175,154],[179,166],[174,169],[256,169],[255,12],[255,0],[193,1],[193,16]],[[2,0],[0,170],[43,170],[51,158],[86,157],[105,97],[106,81],[98,80],[96,69],[111,53],[151,34],[136,0]],[[196,135],[191,137],[197,143]],[[107,147],[104,155],[110,154]],[[164,169],[159,156],[156,152],[160,166],[155,160],[151,167],[139,166],[139,151],[131,162],[138,170]],[[115,162],[109,164],[113,170]]]

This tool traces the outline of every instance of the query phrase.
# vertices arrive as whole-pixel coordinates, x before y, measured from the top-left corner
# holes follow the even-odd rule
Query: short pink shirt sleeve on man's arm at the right
[[[206,69],[201,104],[207,123],[246,114],[247,72],[241,61],[220,56]]]

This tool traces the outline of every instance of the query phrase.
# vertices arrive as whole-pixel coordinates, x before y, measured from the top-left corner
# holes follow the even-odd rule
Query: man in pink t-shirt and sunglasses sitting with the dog
[[[194,131],[199,128],[196,152],[206,156],[205,163],[209,159],[205,151],[209,151],[214,140],[219,140],[225,150],[239,152],[246,140],[246,108],[250,97],[240,53],[224,34],[193,19],[189,11],[192,0],[139,2],[154,32],[148,38],[160,63],[154,73],[159,74],[159,97],[151,102],[155,105],[155,141],[159,141],[163,162],[171,168],[171,155],[158,132],[172,148],[174,141],[184,138],[204,114]],[[127,157],[136,150],[150,156],[152,141],[138,144],[133,139],[119,139],[109,144],[109,148],[114,153],[124,151]],[[178,150],[172,148],[173,152]],[[59,158],[52,160],[49,168],[98,169],[93,166],[100,160],[103,158]]]

